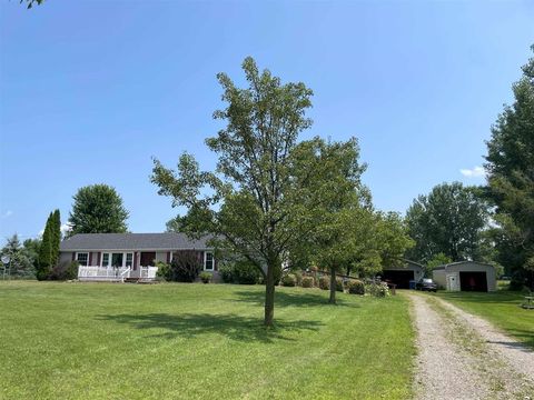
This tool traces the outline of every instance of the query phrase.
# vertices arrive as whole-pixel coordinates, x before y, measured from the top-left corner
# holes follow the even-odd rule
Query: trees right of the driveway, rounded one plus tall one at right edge
[[[514,102],[486,143],[486,184],[444,183],[415,199],[406,212],[415,240],[407,257],[431,268],[490,262],[511,278],[511,288],[534,288],[534,58],[522,71]]]

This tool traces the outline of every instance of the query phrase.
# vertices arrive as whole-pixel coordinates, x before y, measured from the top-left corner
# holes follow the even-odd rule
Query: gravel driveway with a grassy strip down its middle
[[[408,297],[417,399],[534,399],[534,351],[442,299]]]

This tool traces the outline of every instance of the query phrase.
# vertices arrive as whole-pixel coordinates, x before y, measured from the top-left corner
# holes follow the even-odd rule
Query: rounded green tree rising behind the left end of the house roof
[[[70,234],[122,233],[128,227],[128,211],[115,188],[108,184],[91,184],[80,188],[73,196],[69,216]]]

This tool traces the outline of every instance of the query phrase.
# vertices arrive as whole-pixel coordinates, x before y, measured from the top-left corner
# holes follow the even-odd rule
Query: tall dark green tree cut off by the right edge
[[[485,167],[501,226],[495,234],[500,262],[518,283],[528,279],[534,286],[534,58],[522,69],[514,102],[492,127]]]

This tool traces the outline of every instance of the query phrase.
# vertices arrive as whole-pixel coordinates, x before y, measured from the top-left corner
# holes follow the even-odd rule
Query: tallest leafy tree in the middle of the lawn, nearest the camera
[[[247,88],[218,74],[227,107],[214,117],[226,126],[208,148],[217,153],[215,172],[200,171],[184,153],[177,170],[155,160],[151,181],[159,194],[188,212],[179,226],[190,234],[212,233],[222,251],[237,253],[265,278],[265,324],[274,320],[275,279],[288,252],[315,229],[324,198],[330,193],[310,158],[320,140],[297,143],[310,127],[305,112],[312,106],[304,83],[281,83],[268,70],[259,72],[251,58],[243,63]]]

